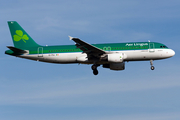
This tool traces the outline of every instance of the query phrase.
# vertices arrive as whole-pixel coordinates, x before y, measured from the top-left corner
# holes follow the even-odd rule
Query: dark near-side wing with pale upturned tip
[[[83,53],[86,53],[89,57],[100,57],[101,55],[105,54],[106,52],[104,50],[101,50],[89,43],[86,43],[82,40],[80,40],[79,38],[73,38],[70,37],[70,40],[73,40],[77,46],[77,48],[81,49],[83,51]]]

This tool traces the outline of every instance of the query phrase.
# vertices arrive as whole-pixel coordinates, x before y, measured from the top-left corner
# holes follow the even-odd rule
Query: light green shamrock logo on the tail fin
[[[23,35],[23,31],[21,30],[16,30],[16,35],[13,36],[14,41],[18,42],[21,39],[26,43],[26,40],[29,40],[29,37],[25,34]]]

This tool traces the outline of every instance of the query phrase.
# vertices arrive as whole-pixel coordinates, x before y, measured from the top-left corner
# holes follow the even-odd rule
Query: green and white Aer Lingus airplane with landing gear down
[[[127,42],[89,44],[69,36],[75,45],[41,46],[16,22],[8,21],[14,46],[7,46],[5,54],[57,64],[92,64],[93,74],[97,75],[97,67],[110,70],[124,70],[125,62],[150,61],[154,70],[154,60],[166,59],[175,55],[172,49],[157,42]]]

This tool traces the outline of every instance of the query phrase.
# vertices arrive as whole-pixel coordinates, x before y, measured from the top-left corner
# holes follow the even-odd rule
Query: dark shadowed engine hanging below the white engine
[[[110,64],[103,64],[104,68],[110,68],[111,70],[124,70],[125,63],[110,63]]]

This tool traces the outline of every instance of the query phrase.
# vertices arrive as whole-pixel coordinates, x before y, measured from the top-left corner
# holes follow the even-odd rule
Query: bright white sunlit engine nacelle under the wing
[[[124,53],[108,54],[108,62],[120,63],[123,62]]]

